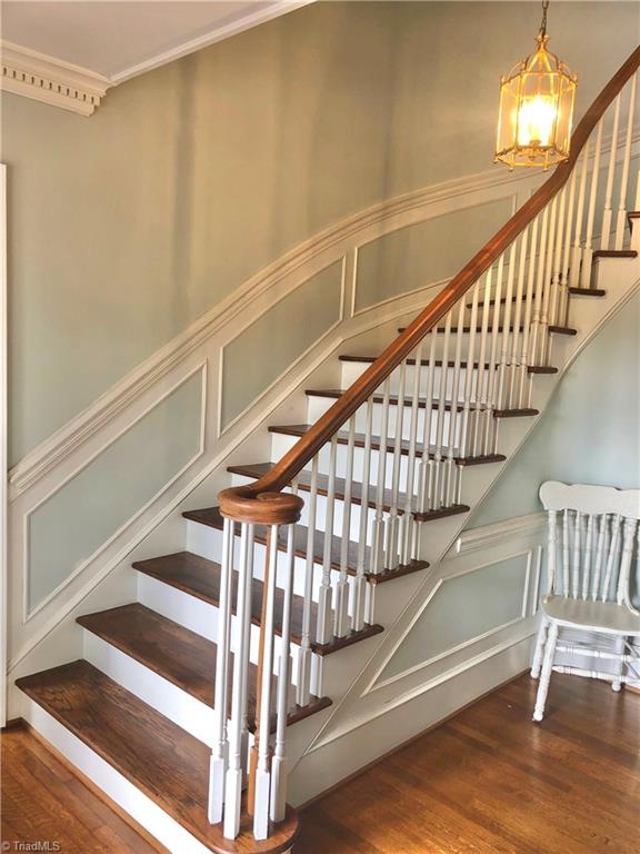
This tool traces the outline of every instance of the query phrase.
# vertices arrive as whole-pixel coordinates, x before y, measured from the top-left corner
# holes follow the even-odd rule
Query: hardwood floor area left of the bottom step
[[[27,727],[2,732],[0,748],[3,851],[19,851],[17,843],[49,842],[49,851],[61,854],[166,852],[137,833]]]

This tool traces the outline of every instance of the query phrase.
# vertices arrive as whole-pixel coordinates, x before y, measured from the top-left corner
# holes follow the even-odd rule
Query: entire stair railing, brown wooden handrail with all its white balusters
[[[209,817],[223,818],[229,838],[239,833],[248,766],[256,838],[269,835],[270,821],[283,818],[290,689],[300,705],[319,693],[313,655],[372,622],[368,578],[419,560],[422,523],[464,509],[462,470],[497,457],[501,417],[528,411],[531,377],[549,370],[550,334],[571,331],[570,291],[591,287],[593,251],[624,248],[627,214],[640,208],[637,176],[631,176],[639,66],[640,48],[578,125],[569,160],[280,461],[256,483],[220,493],[218,661],[226,666],[217,668]],[[309,494],[307,504],[300,491]],[[297,525],[302,514],[303,527]],[[259,525],[267,526],[259,572],[264,593],[248,761],[247,671]],[[320,546],[317,529],[324,533]],[[232,603],[234,569],[239,584]],[[278,614],[277,588],[282,590]],[[294,588],[304,605],[292,662]]]

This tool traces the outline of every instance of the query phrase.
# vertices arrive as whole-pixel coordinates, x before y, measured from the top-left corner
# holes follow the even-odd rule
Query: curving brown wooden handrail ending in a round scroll
[[[240,522],[263,524],[288,524],[299,518],[302,506],[301,499],[293,495],[283,495],[281,490],[297,477],[340,427],[366,403],[436,324],[444,317],[478,281],[480,276],[533,221],[556,193],[562,189],[604,111],[639,67],[640,46],[620,67],[582,117],[571,137],[569,159],[557,167],[542,187],[522,205],[498,234],[473,256],[429,306],[387,347],[362,376],[344,391],[268,474],[249,486],[224,489],[220,493],[220,510],[224,516]]]

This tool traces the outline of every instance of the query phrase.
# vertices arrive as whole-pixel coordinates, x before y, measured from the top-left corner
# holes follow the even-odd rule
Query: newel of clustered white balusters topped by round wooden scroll
[[[257,840],[264,840],[269,836],[269,822],[282,821],[286,810],[284,735],[291,673],[293,525],[300,518],[303,502],[291,493],[258,493],[254,486],[226,489],[220,493],[219,502],[224,517],[224,549],[209,820],[223,821],[224,836],[236,838],[240,832],[242,790],[248,785],[247,808],[253,816],[253,835]],[[267,549],[263,566],[256,567],[256,576],[262,580],[262,602],[257,654],[256,719],[252,721],[249,719],[249,671],[251,625],[256,613],[254,605],[252,608],[253,563],[256,555],[261,554],[254,550],[257,525],[267,526]],[[238,566],[234,567],[233,540],[238,533],[237,526],[240,527],[240,554]],[[281,526],[284,526],[283,532],[280,530]],[[279,565],[279,553],[283,544],[287,547],[287,560],[282,566]],[[234,572],[238,574],[236,603],[232,602]],[[233,613],[236,622],[232,624]],[[273,675],[276,661],[277,679]],[[270,735],[273,719],[276,749],[272,754]],[[250,732],[253,732],[251,751]]]

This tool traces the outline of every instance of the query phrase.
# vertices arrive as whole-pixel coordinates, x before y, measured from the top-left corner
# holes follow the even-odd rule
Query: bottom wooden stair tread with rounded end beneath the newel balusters
[[[263,842],[253,838],[246,811],[238,838],[226,840],[222,826],[207,818],[211,748],[88,662],[24,676],[16,684],[210,851],[276,854],[293,844],[299,827],[290,808]]]

